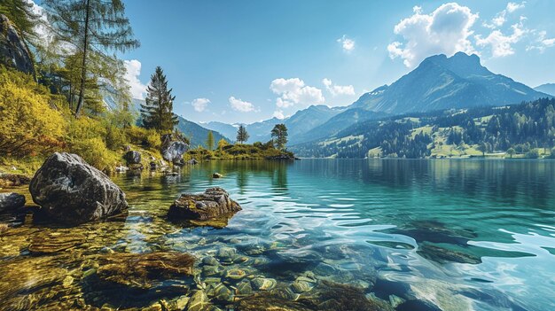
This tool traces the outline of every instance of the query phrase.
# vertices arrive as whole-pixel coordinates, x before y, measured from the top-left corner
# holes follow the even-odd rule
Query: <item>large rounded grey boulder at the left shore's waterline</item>
[[[54,222],[98,221],[127,209],[125,194],[108,176],[81,157],[56,152],[44,161],[29,185],[41,214]]]

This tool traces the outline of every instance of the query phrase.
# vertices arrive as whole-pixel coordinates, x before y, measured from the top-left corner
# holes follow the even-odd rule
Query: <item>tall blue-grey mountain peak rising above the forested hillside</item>
[[[457,52],[435,55],[393,84],[360,97],[349,108],[390,114],[430,112],[479,105],[510,105],[548,97],[547,94],[493,74],[480,58]]]

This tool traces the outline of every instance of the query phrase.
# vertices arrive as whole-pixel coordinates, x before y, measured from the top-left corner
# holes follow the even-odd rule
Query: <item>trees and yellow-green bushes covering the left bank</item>
[[[44,0],[44,16],[27,0],[4,0],[4,14],[33,59],[33,74],[0,64],[0,157],[36,156],[53,150],[76,152],[109,170],[121,147],[160,149],[177,118],[171,89],[160,67],[152,74],[141,127],[129,105],[129,83],[121,52],[135,49],[121,0]],[[37,27],[42,31],[36,32]],[[105,97],[115,107],[107,109]]]

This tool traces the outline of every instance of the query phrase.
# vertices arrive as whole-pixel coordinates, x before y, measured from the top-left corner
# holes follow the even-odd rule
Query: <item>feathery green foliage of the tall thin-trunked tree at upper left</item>
[[[53,27],[53,42],[58,43],[52,50],[58,51],[59,58],[70,54],[66,47],[71,47],[71,51],[76,47],[79,51],[73,55],[69,66],[65,64],[71,75],[66,76],[71,85],[68,90],[70,103],[77,94],[75,114],[79,115],[86,105],[93,113],[97,111],[95,90],[99,88],[128,93],[123,62],[113,51],[128,51],[137,48],[139,43],[133,38],[121,0],[44,0],[42,4]]]

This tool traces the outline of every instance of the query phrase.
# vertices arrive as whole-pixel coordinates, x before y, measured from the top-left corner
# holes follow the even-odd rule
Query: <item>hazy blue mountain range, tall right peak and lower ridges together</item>
[[[270,131],[278,123],[285,123],[289,133],[288,145],[293,146],[330,139],[346,128],[387,116],[512,105],[552,97],[551,94],[555,94],[555,84],[532,89],[502,74],[490,72],[481,66],[477,55],[458,52],[448,58],[441,54],[426,58],[409,74],[391,85],[363,94],[351,105],[311,105],[284,120],[272,118],[246,124],[250,136],[247,143],[269,141]],[[109,105],[111,98],[106,99]],[[135,105],[140,105],[137,101]],[[192,136],[192,145],[204,145],[208,130],[214,132],[216,141],[225,137],[233,142],[238,125],[218,121],[197,124],[180,118],[179,129]]]

